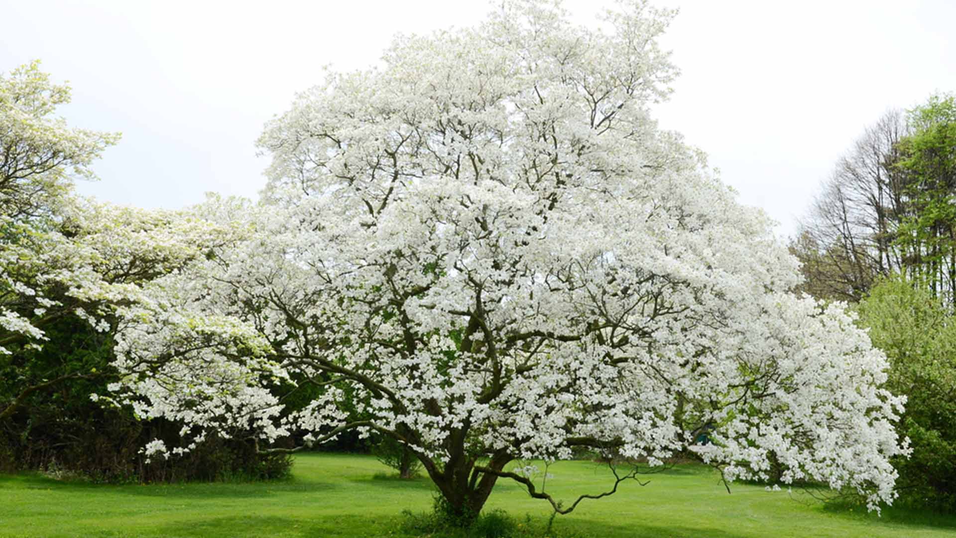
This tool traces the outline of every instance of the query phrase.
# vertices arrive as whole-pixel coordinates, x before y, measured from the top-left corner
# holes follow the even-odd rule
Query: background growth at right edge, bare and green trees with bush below
[[[956,509],[956,98],[889,110],[836,163],[791,251],[802,290],[856,303],[908,398],[902,502]]]

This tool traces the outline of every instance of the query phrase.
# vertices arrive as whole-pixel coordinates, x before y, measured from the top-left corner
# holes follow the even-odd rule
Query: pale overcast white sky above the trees
[[[592,6],[569,1],[583,17]],[[742,203],[793,233],[836,158],[888,107],[956,91],[956,1],[660,0],[683,75],[657,116],[720,168]],[[482,1],[0,0],[0,71],[33,58],[74,101],[75,126],[120,131],[79,190],[178,208],[206,191],[254,197],[253,142],[320,68],[364,68],[396,32],[468,26]]]

